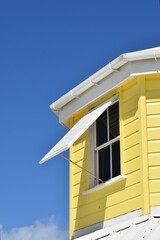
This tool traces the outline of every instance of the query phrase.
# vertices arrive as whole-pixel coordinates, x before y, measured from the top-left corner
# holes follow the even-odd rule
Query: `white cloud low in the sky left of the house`
[[[37,220],[33,225],[5,231],[1,227],[2,240],[68,240],[67,231],[59,229],[54,217],[47,221]]]

